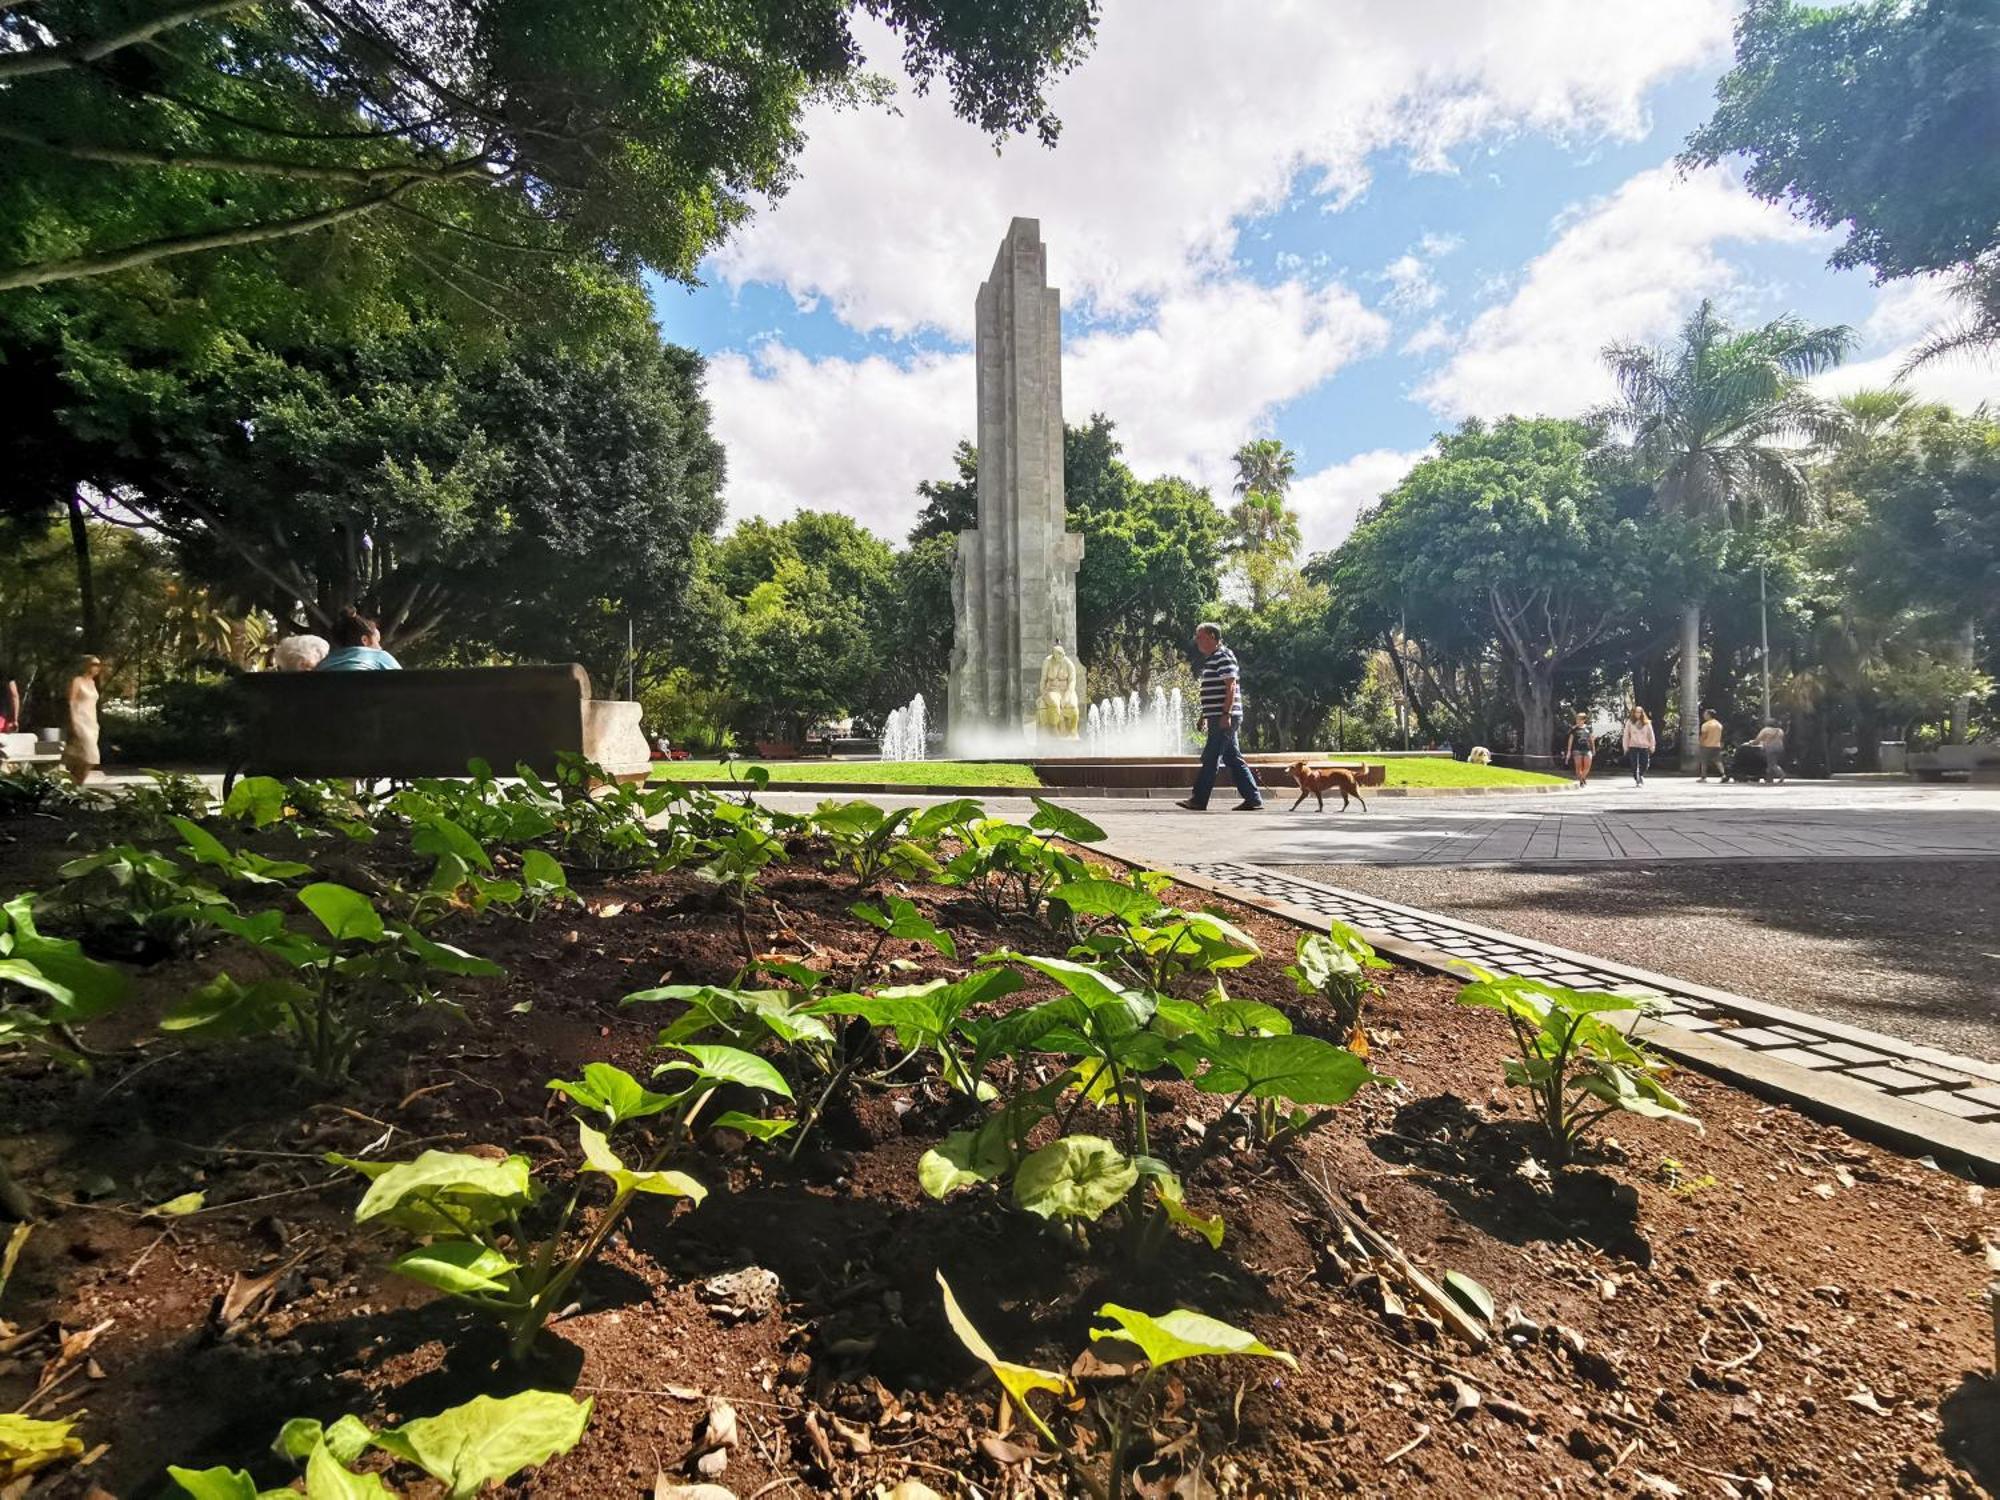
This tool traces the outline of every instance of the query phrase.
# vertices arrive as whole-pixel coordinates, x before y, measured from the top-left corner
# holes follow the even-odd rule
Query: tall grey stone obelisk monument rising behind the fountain
[[[974,348],[980,510],[952,566],[950,738],[990,754],[1034,746],[1042,664],[1056,646],[1076,652],[1084,560],[1062,502],[1062,306],[1032,218],[1008,226],[980,286]]]

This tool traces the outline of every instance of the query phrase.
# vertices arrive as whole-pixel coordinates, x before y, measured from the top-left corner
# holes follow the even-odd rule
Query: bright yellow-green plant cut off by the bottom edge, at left
[[[582,1442],[592,1404],[556,1390],[524,1390],[504,1398],[476,1396],[464,1406],[394,1428],[370,1428],[358,1416],[342,1416],[332,1426],[292,1418],[272,1450],[304,1464],[306,1500],[396,1500],[398,1492],[380,1476],[348,1468],[370,1448],[442,1482],[446,1500],[472,1500],[490,1484],[570,1452]],[[166,1474],[194,1500],[298,1496],[292,1488],[260,1490],[240,1468],[168,1466]]]

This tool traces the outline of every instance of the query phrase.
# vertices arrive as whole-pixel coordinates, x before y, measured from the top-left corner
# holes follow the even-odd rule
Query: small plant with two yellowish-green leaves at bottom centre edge
[[[1132,1440],[1142,1430],[1144,1420],[1150,1414],[1150,1398],[1154,1384],[1160,1374],[1168,1368],[1182,1364],[1186,1360],[1206,1360],[1206,1358],[1262,1358],[1278,1360],[1280,1364],[1298,1368],[1298,1360],[1284,1350],[1270,1348],[1254,1334],[1234,1328],[1232,1324],[1220,1322],[1218,1318],[1208,1318],[1200,1312],[1190,1312],[1186,1308],[1176,1308],[1164,1314],[1138,1312],[1136,1308],[1124,1308],[1116,1302],[1106,1302],[1098,1308],[1098,1318],[1106,1320],[1110,1326],[1092,1328],[1090,1340],[1116,1340],[1118,1344],[1128,1344],[1146,1362],[1146,1372],[1138,1378],[1138,1384],[1124,1392],[1122,1396],[1106,1396],[1100,1402],[1100,1418],[1104,1422],[1104,1474],[1082,1456],[1078,1446],[1062,1444],[1048,1420],[1030,1404],[1030,1396],[1038,1390],[1054,1394],[1058,1400],[1074,1402],[1076,1388],[1070,1378],[1056,1370],[1040,1370],[1032,1364],[1014,1364],[1002,1360],[994,1354],[992,1346],[972,1326],[972,1320],[960,1308],[958,1298],[952,1294],[950,1282],[944,1280],[944,1272],[938,1272],[938,1288],[944,1294],[944,1318],[958,1342],[984,1364],[994,1380],[1000,1382],[1000,1390],[1012,1402],[1014,1410],[1020,1412],[1022,1420],[1028,1422],[1036,1432],[1040,1432],[1048,1444],[1062,1456],[1068,1464],[1070,1476],[1078,1486],[1094,1496],[1096,1500],[1110,1500],[1112,1496],[1130,1494],[1128,1466],[1132,1456]]]

